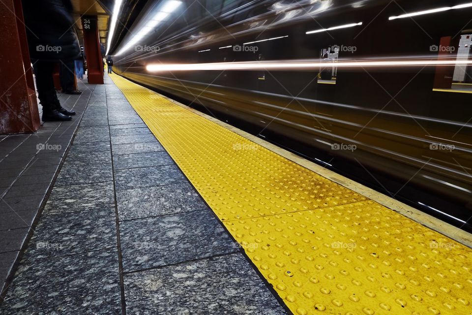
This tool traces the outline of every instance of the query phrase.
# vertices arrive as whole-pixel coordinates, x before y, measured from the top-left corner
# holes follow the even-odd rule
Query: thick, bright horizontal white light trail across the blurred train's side
[[[383,60],[383,61],[268,61],[268,62],[229,62],[229,63],[158,63],[148,64],[149,72],[159,71],[200,71],[200,70],[311,70],[324,67],[423,67],[454,66],[472,64],[472,60],[426,59],[426,60]]]

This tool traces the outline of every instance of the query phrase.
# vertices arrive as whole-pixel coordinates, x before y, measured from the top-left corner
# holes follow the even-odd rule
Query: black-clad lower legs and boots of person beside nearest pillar
[[[46,61],[34,62],[34,75],[36,78],[36,88],[38,89],[38,98],[43,107],[42,120],[46,121],[66,121],[72,117],[61,114],[58,110],[60,107],[56,89],[54,88],[55,63]]]

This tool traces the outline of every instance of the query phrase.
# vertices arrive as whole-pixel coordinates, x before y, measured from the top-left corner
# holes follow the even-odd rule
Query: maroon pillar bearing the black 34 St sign
[[[84,30],[84,48],[87,58],[87,79],[90,84],[103,84],[103,61],[97,17],[82,17],[82,30]]]

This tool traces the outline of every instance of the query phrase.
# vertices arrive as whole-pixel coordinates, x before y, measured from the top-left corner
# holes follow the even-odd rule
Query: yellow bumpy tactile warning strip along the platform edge
[[[111,77],[294,314],[472,314],[471,249]]]

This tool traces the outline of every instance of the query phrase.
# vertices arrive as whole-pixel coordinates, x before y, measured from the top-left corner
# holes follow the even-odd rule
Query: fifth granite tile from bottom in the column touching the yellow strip
[[[165,151],[116,155],[113,162],[115,169],[174,164]]]

